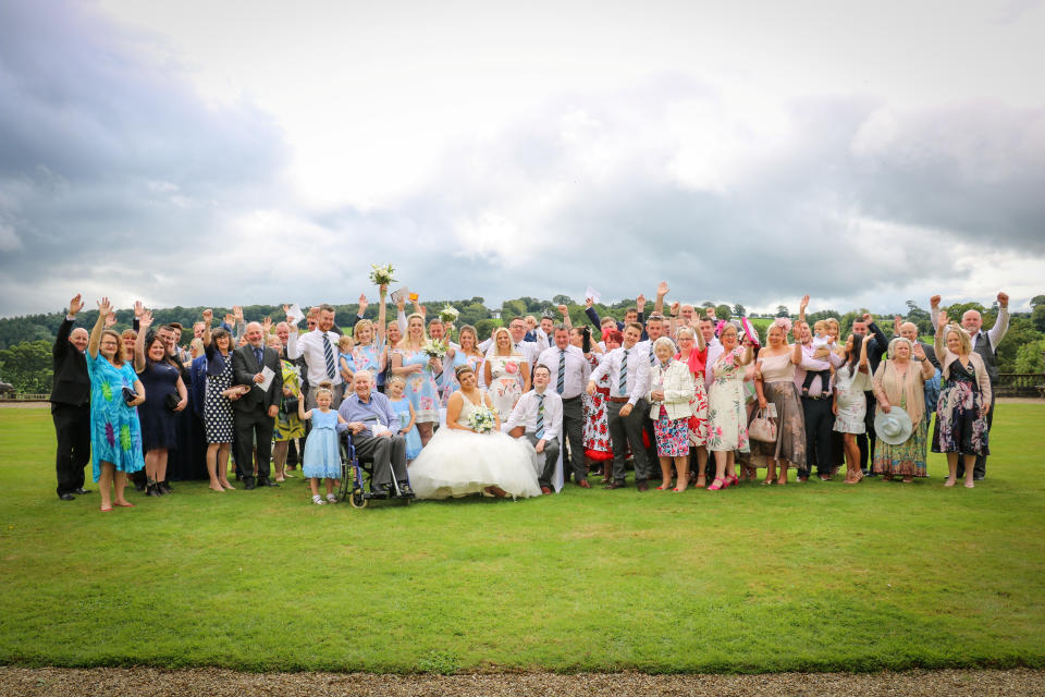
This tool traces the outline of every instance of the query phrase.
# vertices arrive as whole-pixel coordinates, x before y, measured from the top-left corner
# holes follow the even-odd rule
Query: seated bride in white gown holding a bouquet
[[[477,433],[468,418],[490,395],[478,388],[475,371],[458,366],[460,389],[446,405],[446,426],[410,464],[410,485],[418,499],[446,499],[485,492],[497,497],[539,497],[541,487],[530,461],[529,443],[501,432],[501,419],[489,433]]]

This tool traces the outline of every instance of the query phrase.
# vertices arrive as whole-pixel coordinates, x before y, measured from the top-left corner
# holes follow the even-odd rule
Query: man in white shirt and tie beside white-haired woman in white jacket
[[[605,489],[624,487],[625,443],[631,445],[635,458],[635,481],[639,491],[649,489],[650,462],[642,444],[642,428],[649,414],[646,393],[650,387],[650,362],[639,350],[642,325],[632,322],[624,328],[624,345],[603,356],[591,372],[588,394],[595,393],[595,383],[610,376],[610,396],[606,398],[606,420],[613,440],[613,481]]]

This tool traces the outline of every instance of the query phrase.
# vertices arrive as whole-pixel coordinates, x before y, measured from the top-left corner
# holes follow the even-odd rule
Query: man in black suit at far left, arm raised
[[[90,460],[90,376],[84,354],[88,335],[83,327],[73,329],[76,314],[83,307],[79,294],[69,302],[69,313],[51,350],[54,367],[51,420],[58,440],[54,473],[58,498],[62,501],[72,501],[74,493],[90,493],[84,489],[84,467]]]

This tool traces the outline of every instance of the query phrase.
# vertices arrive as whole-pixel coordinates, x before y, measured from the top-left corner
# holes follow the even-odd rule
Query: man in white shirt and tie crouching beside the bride
[[[563,420],[563,400],[554,390],[548,389],[551,375],[548,366],[538,364],[533,369],[533,389],[519,398],[505,424],[509,436],[526,438],[533,445],[533,469],[538,473],[541,493],[552,492]]]

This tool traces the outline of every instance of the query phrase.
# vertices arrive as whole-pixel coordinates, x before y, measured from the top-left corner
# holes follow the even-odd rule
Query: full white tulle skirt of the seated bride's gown
[[[539,497],[528,442],[502,432],[470,433],[441,428],[410,464],[418,499],[446,499],[499,486],[512,498]]]

